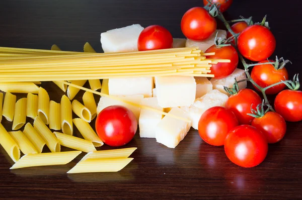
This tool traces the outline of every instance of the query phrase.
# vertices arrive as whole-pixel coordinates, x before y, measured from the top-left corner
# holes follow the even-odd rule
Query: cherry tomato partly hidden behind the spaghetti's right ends
[[[207,56],[210,59],[230,59],[231,62],[219,62],[218,64],[212,64],[211,74],[214,74],[216,79],[225,78],[235,71],[238,66],[238,53],[233,46],[216,47],[213,45],[209,47],[205,53],[215,52],[213,56]]]

